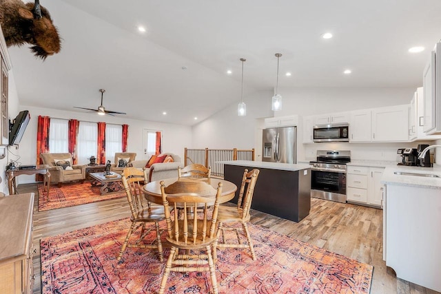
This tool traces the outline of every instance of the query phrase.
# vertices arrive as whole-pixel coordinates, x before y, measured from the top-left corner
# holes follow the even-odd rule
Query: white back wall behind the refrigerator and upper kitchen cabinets
[[[353,160],[396,160],[398,148],[417,147],[416,143],[315,143],[302,144],[302,116],[345,112],[356,109],[384,107],[410,103],[414,88],[279,88],[283,96],[283,110],[274,116],[298,114],[298,160],[311,160],[317,149],[349,149]],[[236,115],[237,104],[218,112],[193,127],[193,146],[197,148],[255,148],[256,160],[261,149],[262,128],[259,118],[271,117],[271,92],[259,92],[249,96],[247,116]],[[440,152],[441,153],[441,152]]]

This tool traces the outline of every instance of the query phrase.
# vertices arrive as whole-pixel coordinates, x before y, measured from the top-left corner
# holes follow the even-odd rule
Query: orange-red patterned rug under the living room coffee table
[[[68,182],[61,188],[51,185],[49,190],[49,201],[46,192],[43,192],[43,184],[39,184],[39,211],[71,207],[80,204],[97,202],[107,199],[125,197],[125,192],[101,196],[101,187],[92,187],[90,182],[76,183]]]

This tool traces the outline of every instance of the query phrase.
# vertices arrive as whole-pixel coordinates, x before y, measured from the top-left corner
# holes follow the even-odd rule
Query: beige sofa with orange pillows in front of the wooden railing
[[[178,167],[183,167],[183,162],[181,162],[181,157],[172,153],[163,153],[172,156],[173,162],[161,162],[154,163],[150,168],[145,167],[147,165],[147,160],[133,160],[129,162],[128,167],[136,167],[138,169],[144,169],[147,174],[147,179],[149,182],[155,180],[163,180],[165,178],[178,178]]]

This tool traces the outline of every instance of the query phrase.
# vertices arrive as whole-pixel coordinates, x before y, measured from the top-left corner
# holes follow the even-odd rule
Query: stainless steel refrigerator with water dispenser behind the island
[[[297,127],[263,129],[262,161],[297,163]]]

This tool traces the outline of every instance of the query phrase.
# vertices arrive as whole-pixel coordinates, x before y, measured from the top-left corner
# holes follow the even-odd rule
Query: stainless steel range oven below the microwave
[[[311,197],[346,203],[346,163],[351,151],[318,150],[311,165]]]

